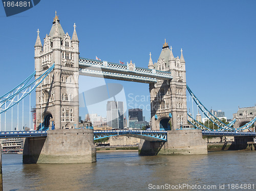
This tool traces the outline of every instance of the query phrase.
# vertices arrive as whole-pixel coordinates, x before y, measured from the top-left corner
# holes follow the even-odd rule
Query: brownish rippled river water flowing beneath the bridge
[[[256,190],[256,152],[138,156],[98,152],[89,164],[23,164],[3,154],[4,190]],[[255,183],[255,184],[254,184]]]

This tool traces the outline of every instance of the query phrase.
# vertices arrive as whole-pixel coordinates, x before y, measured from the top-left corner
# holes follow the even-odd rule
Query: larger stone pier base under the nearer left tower
[[[47,134],[26,138],[23,163],[96,162],[92,129],[55,129]]]

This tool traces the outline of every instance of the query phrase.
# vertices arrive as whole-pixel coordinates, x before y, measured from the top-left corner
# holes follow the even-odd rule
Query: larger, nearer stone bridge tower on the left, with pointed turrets
[[[36,88],[36,127],[73,129],[78,127],[79,41],[76,26],[72,39],[63,31],[55,12],[49,35],[41,44],[39,31],[35,43],[35,78],[53,63],[53,71]],[[77,126],[76,126],[77,125]]]

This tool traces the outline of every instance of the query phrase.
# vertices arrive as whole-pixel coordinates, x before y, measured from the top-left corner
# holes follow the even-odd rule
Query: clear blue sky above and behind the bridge
[[[250,107],[256,102],[255,8],[255,1],[41,0],[32,9],[6,17],[0,6],[0,94],[33,72],[36,31],[39,29],[43,41],[56,10],[63,30],[71,36],[76,23],[80,57],[97,56],[116,63],[132,60],[136,66],[147,67],[150,52],[157,62],[166,38],[175,57],[180,57],[182,48],[187,84],[200,101],[232,118],[238,106]],[[122,84],[126,99],[131,93],[140,98],[149,95],[147,84],[106,83]],[[95,112],[103,115],[102,109]],[[150,111],[143,114],[149,120]]]

